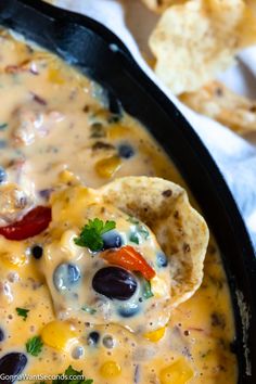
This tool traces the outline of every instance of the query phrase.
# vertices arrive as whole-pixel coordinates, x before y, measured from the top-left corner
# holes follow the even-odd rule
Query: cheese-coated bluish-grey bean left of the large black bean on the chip
[[[66,291],[80,279],[80,270],[74,264],[61,264],[53,273],[53,282],[57,291]]]

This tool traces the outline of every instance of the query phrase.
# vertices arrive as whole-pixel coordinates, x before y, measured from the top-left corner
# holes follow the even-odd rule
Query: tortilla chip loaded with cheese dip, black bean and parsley
[[[60,320],[152,332],[200,286],[208,230],[179,185],[127,177],[92,190],[74,181],[51,205],[39,264]]]

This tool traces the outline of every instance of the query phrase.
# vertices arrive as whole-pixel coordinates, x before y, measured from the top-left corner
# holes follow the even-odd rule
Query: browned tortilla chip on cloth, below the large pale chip
[[[256,101],[234,93],[219,81],[212,81],[196,92],[183,93],[180,100],[239,133],[256,131]]]

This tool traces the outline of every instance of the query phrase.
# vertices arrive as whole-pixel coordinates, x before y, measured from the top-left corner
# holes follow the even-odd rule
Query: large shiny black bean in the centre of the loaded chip
[[[127,300],[136,292],[137,281],[126,269],[105,267],[94,274],[92,286],[95,292],[108,298]]]

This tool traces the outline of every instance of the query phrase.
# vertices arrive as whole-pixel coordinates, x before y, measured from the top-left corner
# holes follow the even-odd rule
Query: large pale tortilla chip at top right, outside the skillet
[[[191,0],[162,15],[150,37],[155,72],[175,94],[195,91],[256,42],[256,18],[242,0]]]

